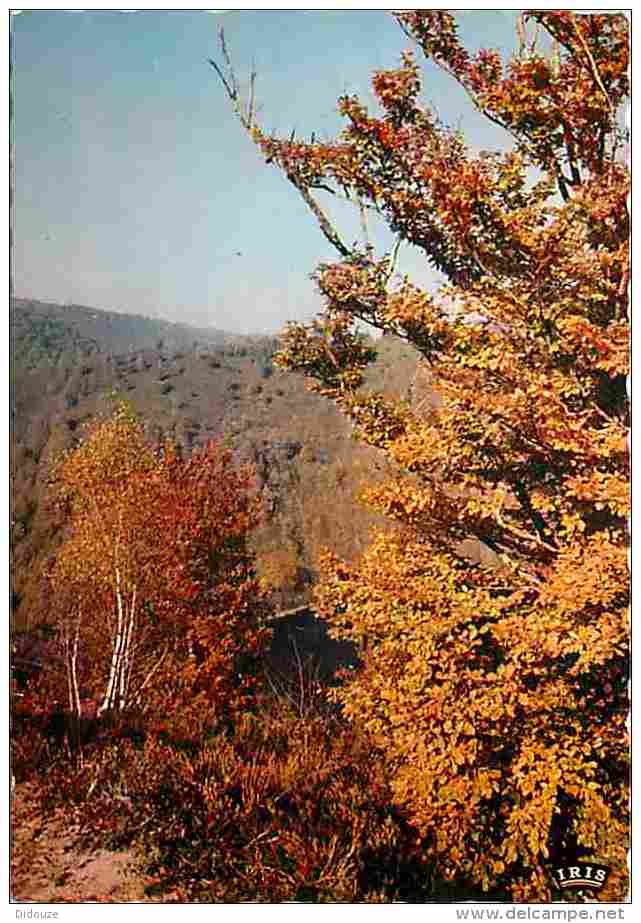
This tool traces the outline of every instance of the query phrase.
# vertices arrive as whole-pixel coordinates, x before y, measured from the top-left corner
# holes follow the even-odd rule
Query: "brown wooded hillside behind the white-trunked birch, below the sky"
[[[349,557],[376,521],[357,502],[384,464],[301,377],[273,365],[274,337],[239,337],[117,312],[17,299],[11,311],[12,600],[16,626],[47,619],[42,567],[59,528],[45,500],[55,458],[125,398],[148,438],[185,452],[224,440],[255,468],[259,569],[281,606],[309,598],[320,548]],[[409,350],[387,339],[374,376],[406,396]]]

